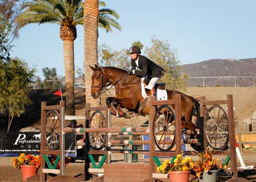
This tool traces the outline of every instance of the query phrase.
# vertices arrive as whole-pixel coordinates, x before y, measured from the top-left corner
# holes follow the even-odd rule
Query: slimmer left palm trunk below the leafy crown
[[[74,66],[74,41],[63,41],[63,55],[65,66],[65,85],[66,85],[66,115],[75,115],[75,96],[74,96],[74,81],[75,81],[75,66]]]

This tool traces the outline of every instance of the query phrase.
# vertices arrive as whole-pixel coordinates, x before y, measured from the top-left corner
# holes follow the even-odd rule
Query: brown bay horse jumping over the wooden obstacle
[[[141,92],[141,79],[135,75],[130,75],[126,70],[114,67],[91,67],[91,96],[95,99],[99,97],[100,91],[108,85],[115,87],[116,97],[108,97],[106,99],[107,106],[111,114],[119,117],[129,118],[129,114],[125,113],[122,108],[129,111],[138,112],[139,107],[144,103]],[[109,82],[109,84],[108,84]],[[175,94],[181,94],[181,128],[192,129],[196,127],[192,123],[193,103],[197,107],[197,120],[199,119],[199,102],[193,97],[185,95],[179,91],[167,90],[167,99],[175,98]],[[174,109],[174,106],[171,106]],[[142,110],[142,114],[149,114],[149,102]]]

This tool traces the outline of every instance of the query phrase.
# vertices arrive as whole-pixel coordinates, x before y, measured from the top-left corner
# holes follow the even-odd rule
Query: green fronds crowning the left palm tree
[[[99,1],[99,6],[105,7],[106,3]],[[84,2],[83,0],[30,0],[22,5],[23,12],[16,19],[19,28],[29,23],[56,23],[60,25],[83,25]],[[112,28],[121,30],[117,22],[119,15],[109,8],[99,9],[98,27],[112,32]]]

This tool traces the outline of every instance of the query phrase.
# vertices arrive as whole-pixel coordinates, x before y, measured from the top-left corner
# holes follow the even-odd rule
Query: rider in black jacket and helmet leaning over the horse
[[[161,79],[161,77],[164,75],[164,72],[166,71],[159,67],[152,60],[140,55],[141,49],[138,46],[130,47],[129,53],[131,55],[132,69],[128,72],[132,72],[136,76],[142,76],[146,79],[149,79],[150,81],[145,88],[152,90],[152,94],[155,95],[156,90],[154,86]],[[141,69],[142,71],[136,70],[136,67]]]

